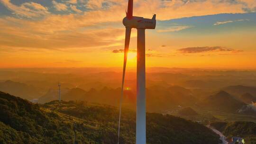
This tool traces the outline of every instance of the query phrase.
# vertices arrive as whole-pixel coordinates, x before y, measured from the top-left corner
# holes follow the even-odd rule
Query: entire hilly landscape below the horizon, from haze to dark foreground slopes
[[[1,135],[3,144],[14,141],[24,144],[114,144],[117,138],[118,107],[121,89],[119,72],[73,69],[22,69],[0,71]],[[198,69],[163,69],[147,73],[146,110],[148,144],[217,144],[241,136],[254,144],[255,134],[243,135],[214,127],[215,123],[256,123],[256,72],[213,71]],[[17,72],[19,75],[16,75]],[[57,74],[56,72],[59,72]],[[8,73],[8,74],[7,74]],[[239,77],[239,81],[236,79]],[[247,79],[251,81],[247,81]],[[35,81],[37,79],[37,81]],[[128,72],[125,83],[122,144],[134,144],[136,121],[136,78]],[[59,104],[57,84],[61,84]],[[205,83],[206,82],[206,83]],[[9,93],[9,94],[6,94]],[[14,97],[18,96],[20,98]],[[4,100],[10,99],[13,100]],[[31,102],[33,103],[31,103]],[[11,102],[11,103],[10,103]],[[23,104],[22,104],[23,103]],[[23,110],[20,110],[23,109]],[[28,108],[28,109],[27,109]],[[31,114],[32,110],[32,114]],[[33,112],[34,111],[34,112]],[[7,113],[6,113],[7,112]],[[20,117],[21,115],[25,117]],[[40,119],[35,119],[41,117]],[[39,121],[38,121],[39,120]],[[13,121],[13,122],[12,122]],[[23,122],[27,129],[20,126]],[[18,123],[17,123],[18,122]],[[15,125],[14,125],[15,124]],[[20,126],[19,126],[20,125]],[[45,125],[48,127],[46,128]],[[177,126],[177,127],[175,127]],[[207,126],[210,126],[209,129]],[[186,128],[185,128],[186,127]],[[194,129],[200,127],[199,129]],[[244,127],[241,125],[240,128]],[[186,133],[183,131],[186,129]],[[227,137],[219,137],[218,130]],[[227,129],[229,127],[227,126]],[[202,132],[203,131],[203,132]],[[236,131],[232,129],[232,131]],[[199,134],[200,133],[200,134]],[[131,136],[133,135],[133,136]],[[188,135],[185,139],[181,135]],[[206,136],[211,135],[209,139]],[[13,141],[13,142],[14,142]],[[4,143],[5,142],[5,143]]]

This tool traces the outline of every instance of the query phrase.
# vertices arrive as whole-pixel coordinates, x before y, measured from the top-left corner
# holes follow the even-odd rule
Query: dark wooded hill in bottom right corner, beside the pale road
[[[245,139],[246,144],[256,144],[256,123],[247,121],[214,122],[210,124],[225,136],[238,136]]]

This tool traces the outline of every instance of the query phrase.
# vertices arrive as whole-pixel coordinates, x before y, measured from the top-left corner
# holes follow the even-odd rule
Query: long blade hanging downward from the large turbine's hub
[[[125,70],[126,70],[127,55],[128,55],[128,51],[129,51],[130,36],[131,36],[131,27],[126,27],[126,30],[125,30],[123,77],[122,77],[121,99],[120,99],[120,109],[119,109],[118,144],[119,144],[119,132],[120,132],[122,101],[123,101],[123,95],[124,95]]]

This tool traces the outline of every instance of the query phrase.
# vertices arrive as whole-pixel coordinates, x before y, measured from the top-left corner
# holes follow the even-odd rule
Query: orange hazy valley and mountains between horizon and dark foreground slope
[[[235,112],[256,102],[256,71],[149,68],[146,73],[147,110],[163,112],[176,106],[203,106]],[[46,103],[58,99],[119,105],[121,72],[117,68],[1,69],[0,90]],[[127,72],[125,107],[136,103],[136,73]],[[229,104],[230,107],[225,105]],[[232,105],[232,106],[231,106]],[[222,108],[223,107],[223,108]],[[229,108],[226,108],[229,107]]]

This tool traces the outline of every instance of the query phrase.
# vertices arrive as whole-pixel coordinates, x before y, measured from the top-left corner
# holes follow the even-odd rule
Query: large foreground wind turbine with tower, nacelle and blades
[[[152,19],[133,16],[133,0],[128,0],[128,9],[123,24],[126,27],[125,47],[124,47],[124,65],[121,87],[121,100],[119,111],[119,130],[120,132],[121,103],[124,91],[124,79],[127,63],[127,54],[129,49],[131,29],[137,28],[137,113],[136,113],[136,144],[146,144],[146,70],[145,70],[145,29],[155,29],[156,15]]]

